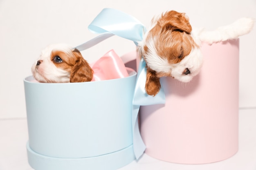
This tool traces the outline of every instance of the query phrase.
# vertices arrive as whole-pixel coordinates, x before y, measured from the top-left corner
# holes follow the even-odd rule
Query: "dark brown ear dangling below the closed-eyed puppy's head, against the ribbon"
[[[157,77],[156,72],[147,67],[146,85],[145,89],[148,95],[155,96],[161,88],[160,78]]]

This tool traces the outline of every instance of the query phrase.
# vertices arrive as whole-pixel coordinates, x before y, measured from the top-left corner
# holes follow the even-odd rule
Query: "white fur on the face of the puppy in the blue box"
[[[31,71],[35,79],[38,82],[60,82],[60,83],[69,83],[70,82],[70,73],[67,71],[57,68],[51,61],[52,50],[58,49],[65,53],[72,53],[72,47],[66,44],[52,44],[43,49],[38,60],[42,60],[39,66],[36,66],[37,61],[32,65]]]

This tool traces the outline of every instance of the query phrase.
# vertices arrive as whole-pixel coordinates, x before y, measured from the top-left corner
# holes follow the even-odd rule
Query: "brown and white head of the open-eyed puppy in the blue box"
[[[81,53],[66,44],[47,46],[31,71],[42,83],[88,82],[93,77],[92,68]]]

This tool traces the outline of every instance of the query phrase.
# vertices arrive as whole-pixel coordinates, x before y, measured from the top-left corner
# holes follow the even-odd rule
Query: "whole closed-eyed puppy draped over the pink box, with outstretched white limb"
[[[193,28],[185,13],[168,11],[153,18],[144,38],[138,43],[138,52],[146,62],[146,85],[148,95],[155,96],[159,89],[160,77],[173,77],[189,82],[198,75],[203,63],[201,42],[209,44],[238,38],[249,33],[254,21],[242,18],[234,24],[223,26],[216,31]]]

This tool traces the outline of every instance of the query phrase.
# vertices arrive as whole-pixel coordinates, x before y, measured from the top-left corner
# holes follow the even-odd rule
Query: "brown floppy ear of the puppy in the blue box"
[[[70,82],[90,82],[93,77],[92,68],[78,49],[74,49],[73,54],[76,56],[76,63],[70,73]]]

